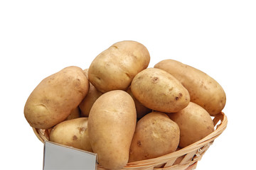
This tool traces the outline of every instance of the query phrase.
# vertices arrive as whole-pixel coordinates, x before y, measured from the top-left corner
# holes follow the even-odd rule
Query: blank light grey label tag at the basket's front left
[[[97,169],[97,155],[81,149],[44,143],[43,170],[94,170]]]

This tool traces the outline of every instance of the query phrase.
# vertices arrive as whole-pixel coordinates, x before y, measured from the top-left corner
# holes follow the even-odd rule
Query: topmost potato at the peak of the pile
[[[89,80],[97,90],[105,93],[126,90],[134,76],[149,65],[149,52],[139,42],[117,42],[95,57],[89,67]]]

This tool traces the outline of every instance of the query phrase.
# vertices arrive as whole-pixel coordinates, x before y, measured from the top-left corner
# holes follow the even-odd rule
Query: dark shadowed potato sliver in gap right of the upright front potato
[[[129,88],[127,89],[127,93],[132,96],[132,98],[134,99],[134,103],[135,103],[135,108],[136,108],[136,112],[137,112],[137,119],[142,118],[144,115],[146,115],[147,113],[151,112],[150,108],[146,108],[144,105],[142,105],[142,103],[140,103],[132,94],[131,91],[131,86],[129,86]]]

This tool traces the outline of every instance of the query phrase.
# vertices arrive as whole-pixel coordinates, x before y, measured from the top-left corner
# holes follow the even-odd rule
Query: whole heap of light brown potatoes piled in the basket
[[[208,74],[175,60],[148,68],[139,42],[117,42],[89,69],[65,67],[32,91],[24,115],[50,141],[95,152],[105,169],[169,154],[214,131],[225,106]]]

